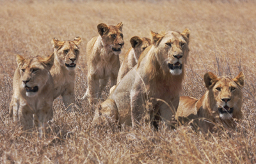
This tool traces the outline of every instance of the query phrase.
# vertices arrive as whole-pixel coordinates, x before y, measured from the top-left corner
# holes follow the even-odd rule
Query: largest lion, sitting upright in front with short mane
[[[138,64],[120,80],[116,88],[96,110],[93,124],[109,118],[127,126],[137,126],[146,114],[146,105],[166,124],[170,124],[179,105],[184,63],[189,55],[189,29],[182,33],[151,32],[152,45],[142,53]],[[147,103],[149,101],[149,103]]]

